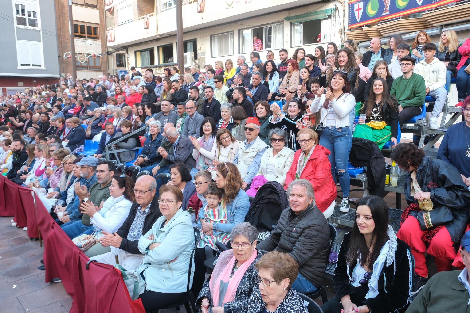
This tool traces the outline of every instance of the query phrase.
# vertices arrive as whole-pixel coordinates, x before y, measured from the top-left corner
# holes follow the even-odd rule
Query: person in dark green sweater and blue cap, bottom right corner
[[[470,230],[463,235],[460,244],[459,253],[465,268],[432,276],[406,313],[470,312]]]

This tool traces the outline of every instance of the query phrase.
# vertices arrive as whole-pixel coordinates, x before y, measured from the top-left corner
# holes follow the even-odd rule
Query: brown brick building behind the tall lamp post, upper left
[[[52,2],[52,1],[51,1]],[[60,73],[72,73],[68,0],[55,0]],[[108,74],[103,0],[71,0],[78,78]],[[77,78],[77,77],[74,77]]]

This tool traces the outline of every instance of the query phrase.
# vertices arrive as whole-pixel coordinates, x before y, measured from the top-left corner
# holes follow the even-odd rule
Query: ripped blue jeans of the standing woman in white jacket
[[[343,198],[349,198],[351,178],[348,174],[348,160],[352,145],[351,129],[349,127],[323,128],[320,136],[320,145],[331,152],[328,156],[328,160],[331,163],[331,175],[336,183],[336,168]]]

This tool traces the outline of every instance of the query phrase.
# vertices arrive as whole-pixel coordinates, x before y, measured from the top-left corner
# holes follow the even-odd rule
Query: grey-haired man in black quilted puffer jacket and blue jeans
[[[289,253],[299,266],[292,288],[303,294],[312,293],[320,288],[325,275],[330,241],[328,221],[315,205],[308,180],[292,181],[287,196],[290,206],[282,211],[276,227],[258,248]]]

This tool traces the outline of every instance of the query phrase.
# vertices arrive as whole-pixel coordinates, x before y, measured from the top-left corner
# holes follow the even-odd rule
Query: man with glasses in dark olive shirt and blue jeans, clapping
[[[84,158],[85,159],[85,158]],[[82,160],[83,161],[83,160]],[[78,165],[81,163],[77,163]],[[80,165],[83,169],[83,165]],[[96,207],[96,211],[102,207],[103,203],[110,197],[111,180],[114,176],[116,166],[111,161],[100,161],[96,167],[96,183],[89,188],[86,186],[75,185],[75,194],[80,200],[78,210],[83,213],[81,209],[81,202],[89,203]],[[80,221],[75,221],[67,226],[62,226],[63,231],[73,239],[79,235],[90,235],[93,233],[93,225],[90,222],[90,216],[83,214]]]

